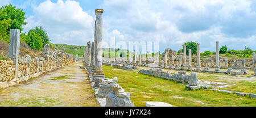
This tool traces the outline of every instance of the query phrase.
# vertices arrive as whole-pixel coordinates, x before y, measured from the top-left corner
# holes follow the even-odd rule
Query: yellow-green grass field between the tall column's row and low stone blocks
[[[256,99],[244,98],[235,94],[210,90],[190,91],[185,85],[163,78],[103,66],[108,78],[118,77],[118,84],[130,92],[135,106],[144,106],[146,102],[158,101],[174,106],[256,106]]]

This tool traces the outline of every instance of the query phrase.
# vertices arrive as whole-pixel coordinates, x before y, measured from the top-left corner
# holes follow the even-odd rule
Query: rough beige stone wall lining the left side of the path
[[[60,68],[73,62],[73,57],[67,54],[57,53],[44,57],[30,58],[30,56],[18,58],[18,78],[14,77],[15,65],[10,59],[0,60],[0,88],[13,86],[21,81],[27,81],[32,77]]]

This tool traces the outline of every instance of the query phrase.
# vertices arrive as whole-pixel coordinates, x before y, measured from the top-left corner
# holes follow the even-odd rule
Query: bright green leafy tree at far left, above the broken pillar
[[[24,22],[25,12],[22,9],[16,9],[11,4],[0,8],[0,20],[11,21],[7,32],[10,32],[10,29],[20,29],[22,31],[22,26],[27,24],[27,22]]]

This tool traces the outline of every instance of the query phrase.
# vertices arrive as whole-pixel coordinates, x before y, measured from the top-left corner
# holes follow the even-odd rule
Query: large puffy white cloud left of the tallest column
[[[33,7],[34,16],[26,19],[24,31],[42,26],[52,43],[86,45],[93,39],[93,17],[76,1],[45,1]]]

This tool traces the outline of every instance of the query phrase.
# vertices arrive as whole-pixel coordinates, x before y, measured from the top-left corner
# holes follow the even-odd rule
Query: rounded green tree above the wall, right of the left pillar
[[[31,49],[42,50],[43,49],[43,40],[39,34],[36,34],[34,31],[28,32],[28,38],[26,43],[30,45]]]

